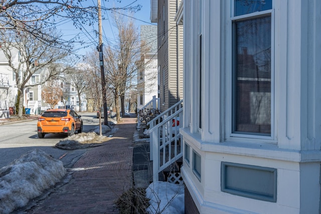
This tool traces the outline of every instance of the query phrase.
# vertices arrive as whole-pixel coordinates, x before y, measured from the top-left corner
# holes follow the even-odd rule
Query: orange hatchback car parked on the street
[[[82,132],[82,119],[72,109],[50,109],[45,111],[37,123],[38,137],[44,138],[47,133],[65,133],[71,136]]]

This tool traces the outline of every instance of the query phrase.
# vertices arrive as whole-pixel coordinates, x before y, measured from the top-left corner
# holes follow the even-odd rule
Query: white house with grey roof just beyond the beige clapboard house
[[[140,40],[142,45],[150,47],[148,53],[142,53],[146,64],[144,69],[139,70],[137,75],[138,95],[137,109],[144,107],[153,96],[158,98],[157,81],[157,26],[141,25]]]

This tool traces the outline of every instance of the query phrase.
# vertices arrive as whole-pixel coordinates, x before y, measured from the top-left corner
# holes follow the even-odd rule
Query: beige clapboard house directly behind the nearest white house
[[[157,70],[160,110],[183,98],[183,26],[174,21],[180,0],[151,0],[150,20],[157,23]]]

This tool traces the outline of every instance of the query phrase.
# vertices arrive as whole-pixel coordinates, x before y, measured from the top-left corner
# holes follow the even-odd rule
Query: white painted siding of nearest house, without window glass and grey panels
[[[273,1],[274,129],[269,139],[231,137],[231,8],[203,3],[202,129],[198,129],[197,5],[184,1],[182,175],[200,213],[319,213],[321,2]],[[192,16],[193,15],[193,16]],[[195,65],[196,64],[196,65]],[[273,80],[272,80],[273,81]],[[196,125],[195,125],[196,124]],[[201,156],[200,179],[193,153]],[[187,161],[189,159],[189,163]],[[222,191],[222,163],[276,169],[276,201]],[[233,178],[237,181],[237,178]]]

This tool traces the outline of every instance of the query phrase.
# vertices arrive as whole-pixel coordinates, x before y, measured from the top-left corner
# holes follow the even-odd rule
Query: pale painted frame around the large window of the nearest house
[[[241,16],[234,16],[234,1],[235,0],[231,0],[231,11],[230,11],[230,22],[229,22],[229,38],[230,38],[230,77],[229,80],[227,81],[227,87],[230,87],[230,93],[229,93],[229,100],[230,100],[230,104],[228,106],[228,112],[229,112],[229,118],[228,118],[228,122],[226,124],[226,127],[228,128],[228,131],[226,132],[226,140],[231,140],[231,139],[244,139],[244,138],[248,138],[248,139],[259,139],[259,140],[269,140],[271,142],[275,142],[276,136],[275,136],[275,69],[274,69],[274,52],[275,52],[275,42],[274,42],[274,35],[275,35],[275,13],[274,13],[274,1],[272,2],[272,9],[270,10],[266,10],[266,11],[261,11],[261,12],[255,12],[255,13],[250,13],[250,14],[246,14],[246,15],[241,15]],[[261,18],[261,17],[266,17],[266,16],[270,16],[271,18],[271,133],[270,135],[262,135],[261,133],[234,133],[233,132],[233,125],[234,125],[234,120],[235,118],[233,117],[233,109],[234,109],[234,102],[233,102],[233,93],[234,92],[234,87],[235,87],[235,83],[233,81],[233,76],[234,76],[234,72],[235,72],[235,56],[234,56],[234,47],[235,47],[235,38],[234,38],[234,26],[235,26],[235,22],[237,21],[246,21],[246,20],[252,20],[252,19],[256,19],[256,18]]]

